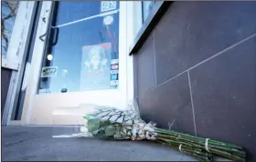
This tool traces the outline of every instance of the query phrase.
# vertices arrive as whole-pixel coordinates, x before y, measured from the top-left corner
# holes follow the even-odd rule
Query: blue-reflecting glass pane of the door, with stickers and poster
[[[119,2],[61,1],[56,11],[38,93],[118,88]]]

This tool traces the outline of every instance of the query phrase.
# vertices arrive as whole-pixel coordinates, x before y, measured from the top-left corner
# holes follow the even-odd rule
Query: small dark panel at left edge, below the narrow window
[[[1,67],[1,73],[1,116],[3,117],[12,70]]]

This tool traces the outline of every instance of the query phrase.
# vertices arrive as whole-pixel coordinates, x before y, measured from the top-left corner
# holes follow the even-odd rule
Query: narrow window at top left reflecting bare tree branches
[[[5,57],[10,43],[10,38],[15,24],[18,1],[2,1],[1,16],[1,50],[2,56]]]

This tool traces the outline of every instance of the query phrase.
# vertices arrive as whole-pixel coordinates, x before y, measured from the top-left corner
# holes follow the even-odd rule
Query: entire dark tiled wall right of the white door
[[[175,2],[134,56],[145,120],[256,160],[256,2]]]

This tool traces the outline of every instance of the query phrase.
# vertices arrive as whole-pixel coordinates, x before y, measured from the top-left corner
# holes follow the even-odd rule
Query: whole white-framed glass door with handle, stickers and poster
[[[76,124],[75,117],[54,118],[53,112],[80,104],[126,107],[133,98],[133,59],[127,47],[133,18],[127,18],[127,4],[42,2],[21,87],[26,93],[19,97],[21,125]]]

